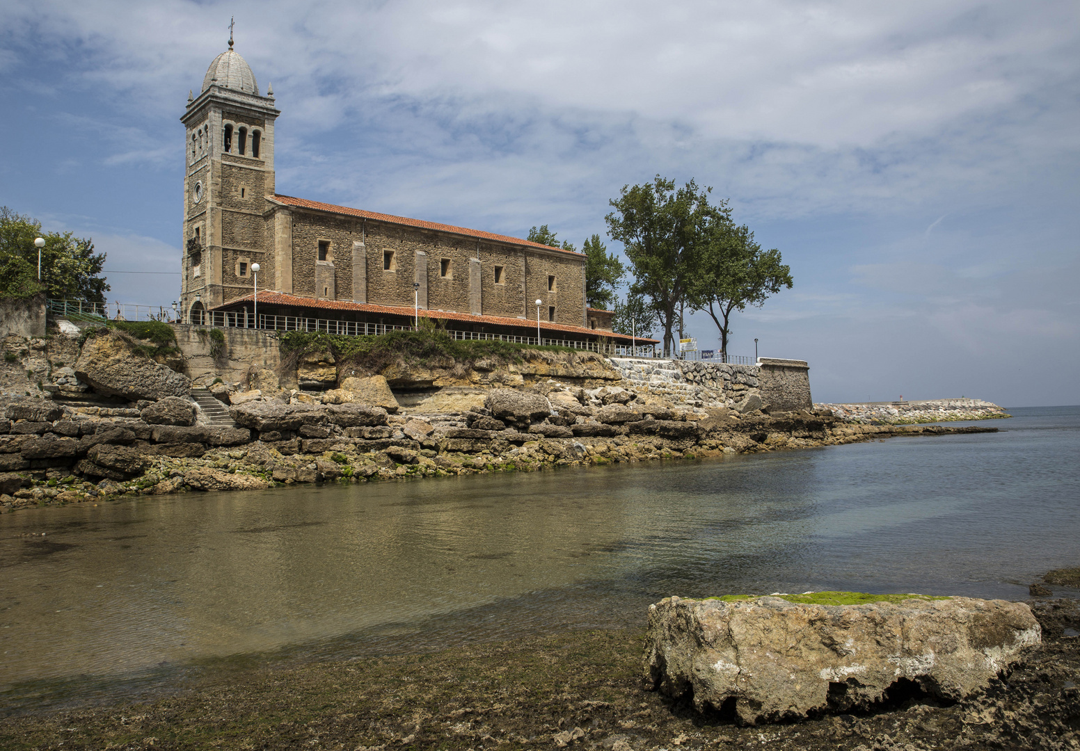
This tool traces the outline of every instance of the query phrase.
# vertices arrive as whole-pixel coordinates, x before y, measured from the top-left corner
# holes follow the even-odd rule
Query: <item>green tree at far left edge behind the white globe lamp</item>
[[[32,269],[35,283],[38,248],[33,241],[37,237],[45,241],[45,247],[41,248],[41,286],[49,297],[105,302],[109,285],[98,276],[105,265],[105,254],[94,254],[93,241],[76,237],[71,232],[42,232],[37,219],[16,214],[6,206],[0,207],[0,259],[22,259]],[[14,262],[5,260],[4,263]],[[0,284],[9,287],[11,283],[4,275]]]

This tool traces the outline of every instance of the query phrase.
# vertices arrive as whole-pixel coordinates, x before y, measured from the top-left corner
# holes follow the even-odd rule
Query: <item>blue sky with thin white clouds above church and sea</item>
[[[281,193],[580,247],[693,179],[795,281],[730,353],[808,360],[815,401],[1080,402],[1076,2],[0,0],[0,205],[92,237],[110,301],[177,298],[179,117],[231,16]]]

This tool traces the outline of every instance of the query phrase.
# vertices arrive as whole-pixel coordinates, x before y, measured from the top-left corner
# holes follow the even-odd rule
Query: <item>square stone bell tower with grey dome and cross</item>
[[[259,94],[251,67],[232,49],[214,58],[202,91],[188,93],[184,170],[184,320],[251,295],[252,263],[259,282],[274,278],[273,233],[266,227],[274,194],[273,127],[281,111],[273,87]],[[269,250],[268,252],[268,246]],[[261,285],[260,285],[261,286]]]

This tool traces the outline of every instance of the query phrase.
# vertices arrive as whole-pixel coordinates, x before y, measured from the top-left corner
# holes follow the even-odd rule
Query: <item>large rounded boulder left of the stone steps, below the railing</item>
[[[98,394],[122,396],[132,401],[157,401],[191,392],[191,379],[133,352],[120,337],[97,336],[86,340],[75,364],[80,381]]]

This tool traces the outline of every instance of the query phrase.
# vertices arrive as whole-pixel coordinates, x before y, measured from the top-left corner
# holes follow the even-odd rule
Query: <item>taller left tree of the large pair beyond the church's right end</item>
[[[652,183],[623,186],[605,220],[611,238],[623,244],[634,273],[631,292],[647,297],[664,329],[664,353],[674,351],[672,329],[697,273],[698,257],[712,227],[730,222],[727,202],[708,204],[712,189],[693,180],[675,189],[657,175]]]

